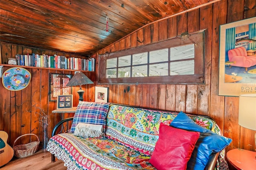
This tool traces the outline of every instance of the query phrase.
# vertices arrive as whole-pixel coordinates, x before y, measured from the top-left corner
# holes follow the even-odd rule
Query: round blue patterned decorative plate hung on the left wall
[[[10,91],[25,89],[31,80],[31,74],[22,67],[12,67],[4,71],[2,83]]]

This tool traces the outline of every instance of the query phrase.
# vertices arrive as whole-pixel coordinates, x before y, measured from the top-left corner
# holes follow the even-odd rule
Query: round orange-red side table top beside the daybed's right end
[[[232,149],[227,152],[228,162],[238,170],[256,170],[256,152]]]

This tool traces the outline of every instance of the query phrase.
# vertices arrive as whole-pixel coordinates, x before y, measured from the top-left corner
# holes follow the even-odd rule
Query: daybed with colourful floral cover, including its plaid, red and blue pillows
[[[56,134],[65,121],[71,132]],[[102,125],[102,136],[74,135],[78,123]],[[206,116],[80,102],[73,118],[52,132],[47,150],[68,170],[228,169],[222,136]]]

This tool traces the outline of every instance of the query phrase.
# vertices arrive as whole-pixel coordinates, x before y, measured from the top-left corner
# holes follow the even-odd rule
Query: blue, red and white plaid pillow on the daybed
[[[70,132],[75,131],[78,123],[88,123],[102,125],[102,133],[105,134],[108,108],[109,103],[80,101],[74,115]]]

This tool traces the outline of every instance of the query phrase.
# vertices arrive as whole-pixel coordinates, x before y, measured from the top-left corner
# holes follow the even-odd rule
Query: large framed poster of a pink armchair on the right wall
[[[220,26],[218,95],[256,93],[256,17]]]

